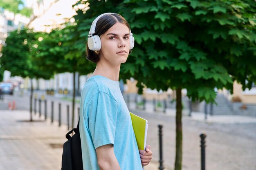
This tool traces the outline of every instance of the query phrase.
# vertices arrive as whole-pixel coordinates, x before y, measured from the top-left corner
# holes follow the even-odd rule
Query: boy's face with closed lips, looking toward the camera
[[[126,62],[130,50],[130,30],[117,22],[101,35],[100,61],[112,66]]]

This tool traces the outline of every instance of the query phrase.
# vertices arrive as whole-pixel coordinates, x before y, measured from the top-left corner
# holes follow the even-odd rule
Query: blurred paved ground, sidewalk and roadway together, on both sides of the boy
[[[46,96],[47,120],[34,115],[29,122],[29,93],[23,96],[16,92],[5,95],[0,101],[0,169],[1,170],[56,170],[61,168],[62,144],[66,141],[67,111],[71,101],[61,97]],[[8,110],[8,104],[16,103],[16,110]],[[54,123],[51,124],[51,104],[54,101]],[[34,102],[34,101],[33,101]],[[61,103],[61,127],[58,127],[58,103]],[[77,123],[77,108],[75,122]],[[149,128],[147,144],[153,151],[153,159],[145,170],[158,170],[159,143],[158,124],[163,125],[164,167],[173,169],[175,160],[175,110],[166,113],[154,112],[153,106],[146,110],[130,111],[147,119]],[[33,105],[34,110],[34,105]],[[71,112],[70,112],[71,117]],[[256,168],[256,117],[241,115],[213,115],[204,119],[203,113],[192,113],[183,117],[183,170],[200,170],[200,133],[206,137],[207,170],[255,170]],[[15,163],[14,163],[15,162]]]

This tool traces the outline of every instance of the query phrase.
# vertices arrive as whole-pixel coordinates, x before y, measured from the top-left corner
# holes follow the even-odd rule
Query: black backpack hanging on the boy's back
[[[71,137],[73,131],[75,134]],[[79,121],[77,127],[67,133],[66,138],[67,141],[63,144],[61,170],[83,170]]]

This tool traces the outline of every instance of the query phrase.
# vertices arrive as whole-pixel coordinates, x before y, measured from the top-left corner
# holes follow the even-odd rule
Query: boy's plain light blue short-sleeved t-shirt
[[[80,136],[84,170],[99,170],[96,148],[113,144],[121,170],[141,170],[139,149],[119,82],[95,75],[83,86]]]

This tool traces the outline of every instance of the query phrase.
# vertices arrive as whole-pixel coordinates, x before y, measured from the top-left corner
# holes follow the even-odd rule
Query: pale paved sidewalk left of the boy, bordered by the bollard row
[[[67,126],[29,112],[0,110],[0,170],[60,170]],[[145,170],[157,170],[151,162]]]

